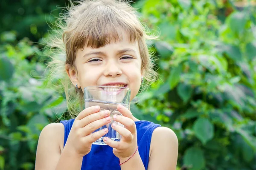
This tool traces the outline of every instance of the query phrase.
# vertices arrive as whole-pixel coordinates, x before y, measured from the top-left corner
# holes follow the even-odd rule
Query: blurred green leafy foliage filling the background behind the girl
[[[42,38],[61,0],[1,1],[0,170],[32,170],[42,128],[66,116],[49,86]],[[256,169],[256,8],[232,0],[138,0],[160,79],[137,96],[138,119],[172,128],[177,169]],[[50,15],[51,13],[51,15]],[[47,23],[49,25],[47,25]],[[57,81],[57,80],[56,80]]]

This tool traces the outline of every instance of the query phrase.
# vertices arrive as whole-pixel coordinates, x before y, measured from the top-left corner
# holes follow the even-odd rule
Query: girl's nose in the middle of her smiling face
[[[115,60],[109,60],[104,71],[106,77],[118,77],[122,75],[122,70],[119,63]]]

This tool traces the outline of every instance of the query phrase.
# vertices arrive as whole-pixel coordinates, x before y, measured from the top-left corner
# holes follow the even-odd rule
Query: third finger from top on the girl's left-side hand
[[[99,129],[100,127],[108,124],[111,122],[111,118],[110,117],[106,117],[103,119],[99,119],[96,120],[94,122],[89,123],[87,126],[83,127],[83,131],[85,136],[89,135],[90,133],[92,133],[94,130]]]

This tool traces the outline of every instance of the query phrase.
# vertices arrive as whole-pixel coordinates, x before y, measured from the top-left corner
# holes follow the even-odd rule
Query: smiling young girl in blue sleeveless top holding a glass
[[[150,37],[128,3],[84,0],[71,5],[63,16],[63,32],[58,32],[62,38],[57,35],[53,39],[52,49],[61,49],[63,45],[66,61],[55,59],[50,64],[54,64],[55,71],[66,72],[70,80],[62,82],[70,111],[70,101],[79,96],[82,101],[86,86],[122,85],[131,89],[132,100],[143,80],[154,81],[156,74],[145,43]],[[175,170],[175,133],[136,119],[122,105],[117,109],[122,116],[113,119],[125,127],[112,127],[122,135],[120,142],[105,137],[107,145],[92,144],[108,129],[92,132],[111,121],[110,111],[100,111],[99,106],[77,112],[75,119],[44,127],[38,141],[35,170]]]

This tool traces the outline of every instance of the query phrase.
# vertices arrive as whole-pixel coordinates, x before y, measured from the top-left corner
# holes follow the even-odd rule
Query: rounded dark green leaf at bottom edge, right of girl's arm
[[[202,170],[205,167],[203,151],[198,147],[190,147],[184,154],[184,164],[189,170]]]

